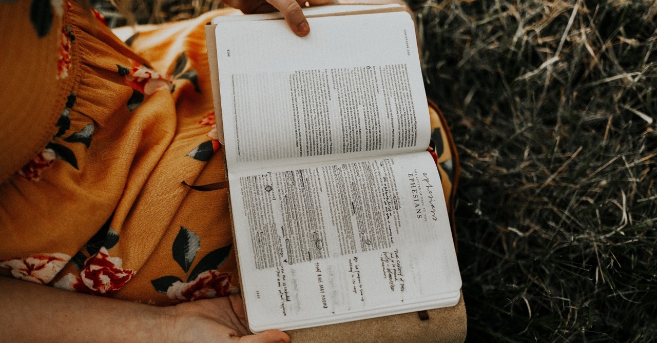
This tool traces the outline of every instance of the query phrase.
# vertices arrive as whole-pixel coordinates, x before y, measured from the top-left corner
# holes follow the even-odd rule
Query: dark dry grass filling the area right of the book
[[[413,3],[459,148],[468,338],[657,340],[657,4]]]

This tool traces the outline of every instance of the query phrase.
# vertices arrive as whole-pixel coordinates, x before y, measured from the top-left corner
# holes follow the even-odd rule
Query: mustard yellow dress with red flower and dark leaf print
[[[0,70],[35,74],[16,71],[32,86],[11,95],[15,78],[0,81],[0,157],[8,159],[0,169],[0,275],[148,304],[238,292],[228,190],[185,185],[226,180],[203,29],[235,10],[125,41],[74,1],[9,1],[0,11],[0,34],[16,47],[0,52]],[[11,51],[47,39],[55,57],[35,56],[45,71],[12,60]],[[53,91],[39,91],[46,83]],[[43,106],[7,110],[20,104]],[[454,145],[436,106],[430,113],[429,150],[451,206]],[[32,121],[30,129],[4,124],[16,121]]]

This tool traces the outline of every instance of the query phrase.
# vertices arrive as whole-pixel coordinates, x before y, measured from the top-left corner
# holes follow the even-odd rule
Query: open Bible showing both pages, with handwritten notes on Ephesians
[[[411,16],[400,6],[306,10],[307,37],[277,14],[213,22],[250,329],[457,304]]]

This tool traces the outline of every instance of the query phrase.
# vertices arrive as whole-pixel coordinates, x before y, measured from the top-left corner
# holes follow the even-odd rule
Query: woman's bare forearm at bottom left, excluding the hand
[[[166,342],[168,308],[0,277],[3,342]]]

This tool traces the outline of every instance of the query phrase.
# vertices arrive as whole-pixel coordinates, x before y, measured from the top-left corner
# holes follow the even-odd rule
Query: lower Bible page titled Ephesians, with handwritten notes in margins
[[[250,328],[453,306],[461,277],[426,151],[230,174]]]

